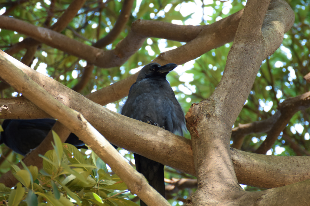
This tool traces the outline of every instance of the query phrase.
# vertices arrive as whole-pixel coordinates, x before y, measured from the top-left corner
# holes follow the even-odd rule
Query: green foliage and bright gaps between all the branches
[[[76,17],[61,33],[88,45],[95,43],[113,28],[119,12],[122,9],[122,1],[123,0],[104,0],[105,7],[101,11],[101,17],[99,9],[101,1],[86,1]],[[50,25],[57,21],[71,2],[72,1],[68,0],[55,1],[55,9],[52,14]],[[285,34],[281,47],[268,57],[268,59],[263,61],[249,98],[234,126],[238,126],[239,123],[245,124],[265,120],[277,111],[278,103],[281,103],[289,97],[301,95],[309,91],[309,84],[305,82],[303,76],[309,73],[310,1],[288,0],[287,2],[295,12],[295,23],[291,30]],[[7,0],[0,0],[0,9],[9,9],[10,3],[11,2]],[[44,27],[44,22],[47,19],[50,9],[49,3],[49,0],[29,0],[18,5],[9,15],[36,26]],[[192,9],[193,12],[190,13],[193,5],[196,5],[196,7]],[[106,46],[104,49],[109,50],[115,48],[116,44],[130,31],[131,23],[137,19],[182,24],[196,22],[196,24],[204,25],[211,24],[220,18],[225,18],[244,8],[244,5],[245,2],[241,0],[228,2],[211,0],[137,1],[134,3],[132,15],[122,32],[112,44]],[[2,10],[2,13],[3,12]],[[23,34],[2,29],[0,31],[0,47],[6,50],[25,38],[27,38],[27,36]],[[158,38],[148,38],[140,50],[121,67],[101,69],[95,66],[91,80],[81,93],[87,95],[93,90],[99,90],[114,82],[125,79],[133,73],[134,70],[131,69],[145,65],[157,57],[162,51],[179,47],[182,44],[184,43]],[[188,111],[191,103],[197,103],[202,99],[208,98],[215,90],[223,74],[226,58],[231,45],[232,43],[225,44],[220,48],[213,49],[201,57],[186,63],[183,67],[179,66],[179,69],[175,69],[176,71],[171,72],[167,76],[184,113]],[[26,50],[21,50],[15,53],[13,57],[21,60],[25,52]],[[86,61],[78,57],[71,56],[42,44],[38,47],[31,67],[40,72],[44,72],[45,68],[47,74],[52,78],[72,88],[79,82],[82,76],[83,66],[85,65]],[[2,97],[12,97],[19,94],[14,92],[12,88],[9,88],[3,90],[1,95]],[[108,104],[107,107],[119,111],[122,104],[123,100],[119,100],[115,103]],[[305,152],[309,152],[310,149],[309,121],[309,110],[296,113],[290,120],[285,131],[278,137],[278,141],[273,145],[272,150],[268,153],[274,155],[307,154]],[[297,147],[293,149],[291,145],[293,143],[285,141],[283,136],[290,138]],[[185,137],[190,138],[189,133],[185,134]],[[266,134],[248,135],[241,149],[253,152],[259,147],[265,137]],[[7,148],[2,145],[1,151],[2,154],[4,154],[7,152]],[[128,162],[134,166],[132,153],[123,149],[119,149],[119,151]],[[68,152],[73,152],[74,155],[70,157]],[[47,204],[60,205],[61,203],[64,205],[72,205],[76,204],[72,203],[74,202],[73,200],[82,200],[83,205],[101,205],[102,203],[100,200],[116,194],[118,190],[126,189],[123,183],[118,183],[121,180],[119,180],[115,174],[112,176],[110,175],[113,171],[107,170],[105,164],[100,163],[99,165],[101,165],[102,168],[98,167],[97,162],[101,160],[94,153],[86,155],[85,152],[86,150],[82,149],[80,153],[76,148],[66,144],[63,145],[62,155],[60,155],[60,153],[57,155],[55,151],[50,151],[45,155],[44,170],[40,171],[39,174],[31,173],[33,167],[17,171],[17,169],[12,166],[12,169],[15,170],[15,176],[20,176],[20,182],[24,187],[18,184],[15,189],[10,189],[0,184],[0,190],[3,195],[1,200],[10,200],[11,198],[16,201],[14,202],[16,205],[18,204],[17,202],[20,201],[20,205],[26,203],[31,203],[31,205],[33,205],[33,202],[36,202],[34,195],[37,195],[37,201],[41,204],[47,201]],[[1,163],[0,173],[4,174],[10,170],[10,166],[19,162],[20,158],[22,158],[22,156],[19,154],[14,152],[10,153],[6,157],[6,160]],[[73,163],[75,161],[83,162],[82,165],[84,166],[70,168],[70,164],[80,164],[80,162]],[[60,162],[62,163],[60,164]],[[86,167],[85,164],[88,164],[89,167]],[[96,166],[96,168],[91,166]],[[74,176],[76,172],[78,172],[80,176]],[[31,177],[33,180],[31,180],[31,184],[29,184],[29,178],[31,179]],[[165,177],[167,179],[193,178],[169,167],[166,167]],[[246,187],[246,190],[257,191],[259,189]],[[71,193],[69,191],[71,191]],[[174,199],[168,201],[174,206],[182,205],[184,199],[191,195],[193,191],[192,189],[179,191],[177,194],[174,194]],[[126,192],[123,195],[118,195],[115,198],[104,201],[104,204],[133,204],[124,199],[124,197],[128,199],[134,198],[133,195]],[[72,202],[69,202],[68,198],[72,200]],[[123,202],[120,203],[120,201]],[[13,203],[9,201],[9,205],[13,205]]]

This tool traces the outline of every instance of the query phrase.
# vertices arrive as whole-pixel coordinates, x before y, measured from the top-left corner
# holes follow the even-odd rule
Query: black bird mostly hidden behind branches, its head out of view
[[[40,145],[55,122],[54,119],[4,120],[0,144],[4,143],[14,152],[25,156],[31,149]],[[85,148],[84,143],[73,133],[65,143]]]

